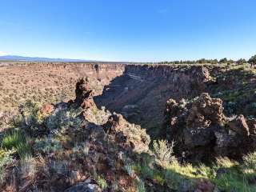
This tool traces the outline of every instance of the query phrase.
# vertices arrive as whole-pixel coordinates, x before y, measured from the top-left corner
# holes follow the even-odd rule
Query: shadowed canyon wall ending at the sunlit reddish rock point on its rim
[[[168,98],[191,98],[206,90],[209,71],[202,66],[126,66],[122,75],[94,98],[98,106],[121,113],[128,121],[146,127],[151,135],[162,133]]]

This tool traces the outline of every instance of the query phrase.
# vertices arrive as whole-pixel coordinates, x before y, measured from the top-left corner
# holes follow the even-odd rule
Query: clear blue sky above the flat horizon
[[[250,58],[255,0],[0,0],[0,55]]]

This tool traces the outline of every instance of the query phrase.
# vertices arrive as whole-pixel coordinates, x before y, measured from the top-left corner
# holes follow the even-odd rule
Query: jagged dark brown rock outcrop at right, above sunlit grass
[[[241,158],[256,149],[255,121],[243,115],[223,114],[222,100],[201,94],[186,102],[166,102],[167,138],[176,142],[176,153],[190,161],[209,161],[217,156]]]

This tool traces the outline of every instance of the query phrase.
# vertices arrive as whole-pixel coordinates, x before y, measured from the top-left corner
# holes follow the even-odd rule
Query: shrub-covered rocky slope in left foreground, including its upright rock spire
[[[124,166],[149,150],[146,130],[106,111],[99,112],[106,114],[101,119],[89,121],[94,114],[87,110],[98,113],[93,91],[82,79],[75,92],[70,102],[41,108],[31,108],[30,103],[18,119],[10,119],[12,126],[2,133],[3,191],[132,191],[136,187],[138,179],[131,178]]]

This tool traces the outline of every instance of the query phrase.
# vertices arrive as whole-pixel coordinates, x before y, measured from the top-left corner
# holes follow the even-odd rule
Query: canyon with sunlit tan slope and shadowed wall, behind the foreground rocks
[[[3,62],[0,74],[0,111],[18,107],[26,99],[67,101],[74,98],[77,79],[87,77],[98,108],[106,106],[106,110],[122,114],[146,128],[153,138],[166,134],[163,122],[169,98],[189,101],[207,92],[222,98],[227,115],[256,115],[254,70],[235,64]]]

